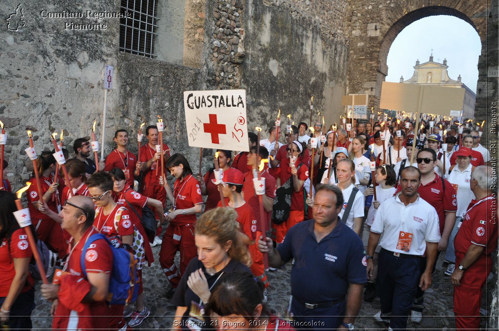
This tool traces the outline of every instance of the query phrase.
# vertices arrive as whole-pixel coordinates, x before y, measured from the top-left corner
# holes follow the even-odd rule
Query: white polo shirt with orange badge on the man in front
[[[426,242],[440,242],[440,223],[435,208],[423,200],[418,194],[418,198],[413,203],[404,205],[400,201],[399,192],[396,196],[386,199],[374,216],[371,231],[383,233],[380,246],[384,249],[409,254],[423,255],[426,250]],[[400,231],[412,233],[412,242],[409,251],[404,251],[397,243]]]

